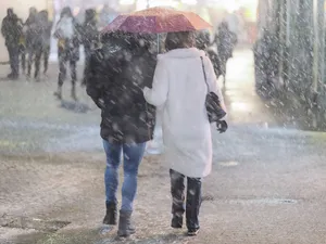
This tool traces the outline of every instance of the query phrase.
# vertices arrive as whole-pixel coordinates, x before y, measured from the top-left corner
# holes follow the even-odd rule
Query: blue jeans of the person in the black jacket
[[[124,182],[122,187],[122,210],[131,211],[137,192],[138,167],[142,159],[146,143],[113,144],[103,140],[106,154],[105,194],[106,203],[117,203],[118,166],[121,154],[124,155]]]

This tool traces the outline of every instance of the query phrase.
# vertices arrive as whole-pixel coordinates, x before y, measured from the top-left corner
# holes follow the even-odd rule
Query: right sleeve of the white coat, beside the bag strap
[[[217,84],[217,78],[216,78],[216,75],[214,72],[213,64],[208,56],[204,56],[203,60],[204,60],[204,68],[205,68],[205,73],[206,73],[206,80],[208,80],[210,92],[214,92],[215,94],[217,94],[222,108],[225,112],[227,112],[225,102],[224,102],[224,98],[222,94],[222,90]]]

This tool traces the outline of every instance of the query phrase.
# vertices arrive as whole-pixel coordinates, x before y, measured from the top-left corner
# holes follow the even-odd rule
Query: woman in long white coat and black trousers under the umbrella
[[[199,231],[201,178],[212,169],[211,125],[205,110],[208,86],[203,72],[210,91],[220,97],[225,110],[213,65],[203,51],[193,48],[195,37],[191,31],[167,35],[168,52],[158,56],[152,88],[143,89],[147,102],[163,113],[164,158],[171,164],[172,227],[183,228],[186,210],[189,235],[197,235]]]

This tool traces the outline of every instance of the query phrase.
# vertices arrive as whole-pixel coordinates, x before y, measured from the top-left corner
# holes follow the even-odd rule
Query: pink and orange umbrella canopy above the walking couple
[[[210,27],[212,26],[196,13],[151,8],[118,15],[102,33],[120,30],[135,34],[160,34],[200,30]]]

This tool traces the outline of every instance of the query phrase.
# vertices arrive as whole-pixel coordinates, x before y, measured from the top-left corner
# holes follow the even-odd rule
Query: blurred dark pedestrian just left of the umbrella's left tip
[[[85,13],[85,22],[83,25],[83,35],[82,40],[85,50],[85,67],[84,67],[84,78],[83,85],[86,85],[86,75],[89,72],[89,61],[91,50],[95,48],[98,42],[98,22],[97,22],[97,13],[93,9],[86,10]]]

